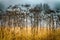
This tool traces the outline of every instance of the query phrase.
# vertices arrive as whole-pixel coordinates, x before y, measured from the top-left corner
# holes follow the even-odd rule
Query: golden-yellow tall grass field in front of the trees
[[[0,40],[60,40],[60,29],[0,27]]]

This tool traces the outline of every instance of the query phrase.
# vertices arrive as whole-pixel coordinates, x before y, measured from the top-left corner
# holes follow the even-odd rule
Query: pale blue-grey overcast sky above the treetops
[[[60,0],[0,0],[4,3],[5,6],[14,5],[14,4],[39,4],[39,3],[48,3],[53,7],[54,3],[60,2]]]

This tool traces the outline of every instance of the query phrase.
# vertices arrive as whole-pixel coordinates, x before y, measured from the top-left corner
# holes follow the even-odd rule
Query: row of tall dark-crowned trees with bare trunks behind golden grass
[[[0,26],[18,27],[47,27],[58,28],[60,26],[60,9],[51,9],[48,4],[37,4],[31,7],[30,4],[10,5],[4,12],[0,10]],[[22,7],[25,9],[23,10]]]

